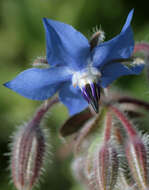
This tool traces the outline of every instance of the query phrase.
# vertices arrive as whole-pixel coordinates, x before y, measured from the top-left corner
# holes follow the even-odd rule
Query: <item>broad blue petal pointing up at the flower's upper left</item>
[[[47,60],[50,65],[84,68],[89,56],[88,40],[72,26],[43,19],[46,31]]]

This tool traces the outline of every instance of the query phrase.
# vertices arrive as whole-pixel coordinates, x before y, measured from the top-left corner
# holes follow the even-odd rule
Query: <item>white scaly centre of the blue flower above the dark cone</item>
[[[100,77],[100,71],[98,71],[95,67],[89,66],[83,71],[73,73],[72,84],[74,87],[78,86],[82,88],[86,84],[98,82]]]

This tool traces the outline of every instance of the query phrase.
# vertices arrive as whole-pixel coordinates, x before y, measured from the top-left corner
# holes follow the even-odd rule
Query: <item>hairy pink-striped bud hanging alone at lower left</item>
[[[45,137],[37,123],[21,127],[14,137],[11,155],[13,182],[18,190],[31,190],[45,158]]]

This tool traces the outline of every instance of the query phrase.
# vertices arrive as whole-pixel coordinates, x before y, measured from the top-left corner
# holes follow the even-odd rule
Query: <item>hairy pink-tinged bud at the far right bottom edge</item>
[[[126,145],[126,157],[128,165],[140,190],[149,189],[147,151],[144,143],[139,137],[131,138]]]

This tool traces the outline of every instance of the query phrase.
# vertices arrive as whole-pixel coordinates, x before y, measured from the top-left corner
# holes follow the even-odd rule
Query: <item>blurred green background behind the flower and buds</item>
[[[0,0],[0,190],[15,189],[8,170],[10,136],[16,126],[28,121],[41,102],[28,100],[2,84],[31,67],[37,56],[45,55],[42,18],[73,25],[87,37],[95,26],[102,27],[106,40],[118,34],[128,12],[135,8],[133,30],[136,41],[149,41],[149,10],[145,0]],[[145,75],[123,77],[115,86],[135,97],[149,101]],[[61,151],[59,128],[68,117],[63,105],[54,107],[47,117],[50,130],[51,164],[46,167],[42,190],[81,190],[73,180],[71,156]]]

